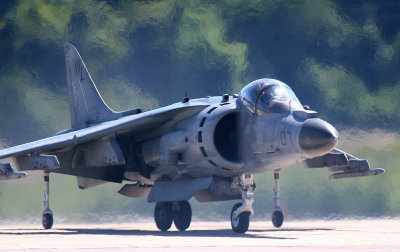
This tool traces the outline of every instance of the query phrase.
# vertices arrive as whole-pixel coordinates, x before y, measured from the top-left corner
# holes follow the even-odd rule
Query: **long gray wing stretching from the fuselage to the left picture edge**
[[[122,117],[88,128],[0,150],[0,159],[32,153],[51,153],[72,145],[94,141],[111,134],[150,131],[160,128],[167,123],[175,123],[194,115],[206,106],[208,105],[201,102],[177,103],[141,114]]]

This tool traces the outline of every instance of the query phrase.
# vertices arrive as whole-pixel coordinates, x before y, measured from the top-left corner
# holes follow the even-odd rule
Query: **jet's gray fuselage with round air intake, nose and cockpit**
[[[257,80],[243,90],[254,86],[260,92],[271,86],[275,92],[290,90],[272,79]],[[146,164],[155,167],[154,175],[167,174],[171,179],[182,175],[232,177],[280,169],[324,155],[336,146],[335,128],[318,119],[316,112],[305,110],[293,92],[273,97],[274,90],[267,91],[270,101],[256,101],[264,103],[264,108],[249,109],[242,92],[191,100],[210,105],[178,122],[173,131],[144,141]]]

